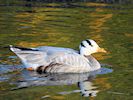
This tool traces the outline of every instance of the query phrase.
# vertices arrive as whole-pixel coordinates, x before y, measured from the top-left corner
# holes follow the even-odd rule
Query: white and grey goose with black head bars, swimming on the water
[[[23,48],[12,45],[10,50],[20,58],[26,69],[38,73],[83,73],[98,70],[101,66],[91,54],[106,53],[106,50],[100,48],[92,39],[83,40],[79,51],[52,46]]]

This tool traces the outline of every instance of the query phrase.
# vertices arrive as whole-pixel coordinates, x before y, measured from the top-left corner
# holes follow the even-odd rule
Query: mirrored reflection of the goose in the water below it
[[[78,90],[62,91],[57,94],[67,95],[80,92],[84,97],[94,97],[97,95],[99,90],[96,86],[94,86],[92,80],[96,77],[97,74],[105,74],[109,72],[112,72],[112,70],[108,68],[101,68],[100,70],[94,72],[80,74],[38,74],[36,72],[23,70],[20,75],[21,78],[14,82],[17,87],[13,88],[12,90],[28,88],[30,86],[57,86],[77,84],[79,87]]]

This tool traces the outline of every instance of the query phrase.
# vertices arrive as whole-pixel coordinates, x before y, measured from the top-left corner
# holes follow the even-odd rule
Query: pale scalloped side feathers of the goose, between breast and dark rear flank
[[[58,56],[55,56],[53,59],[51,59],[51,62],[53,62],[55,65],[49,67],[47,72],[87,72],[90,70],[89,61],[87,58],[79,54],[58,53],[57,55]]]

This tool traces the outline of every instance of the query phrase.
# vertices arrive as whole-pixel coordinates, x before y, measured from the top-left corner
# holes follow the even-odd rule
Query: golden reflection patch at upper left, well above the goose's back
[[[51,19],[51,17],[47,16],[47,13],[44,11],[59,11],[57,8],[34,8],[32,9],[35,11],[35,13],[28,13],[28,12],[21,12],[16,14],[16,18],[22,21],[22,23],[19,23],[21,27],[27,27],[30,26],[32,28],[36,28],[40,25],[43,25],[42,22],[44,20]],[[53,17],[52,17],[53,18]],[[26,23],[23,23],[26,22]],[[46,27],[46,26],[44,26]],[[19,28],[18,30],[22,30],[22,28]]]

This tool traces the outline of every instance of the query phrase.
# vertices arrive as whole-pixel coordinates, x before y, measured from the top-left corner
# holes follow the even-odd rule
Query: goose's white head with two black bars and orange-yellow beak
[[[82,41],[79,46],[79,49],[80,49],[80,54],[84,56],[88,56],[96,52],[106,53],[106,51],[103,48],[100,48],[98,44],[94,40],[91,40],[91,39]]]

